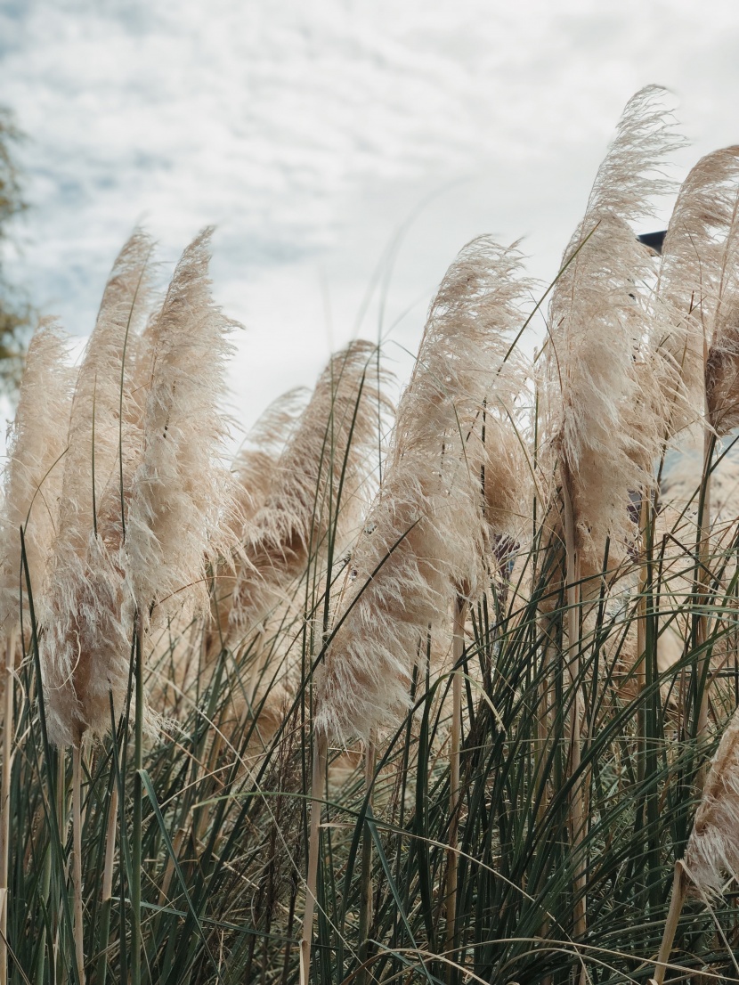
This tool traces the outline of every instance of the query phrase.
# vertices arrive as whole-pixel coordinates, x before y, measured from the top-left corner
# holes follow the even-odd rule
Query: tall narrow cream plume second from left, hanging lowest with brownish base
[[[110,723],[128,684],[132,608],[122,556],[130,457],[122,427],[126,352],[143,318],[152,244],[136,231],[115,261],[72,402],[50,576],[42,595],[40,658],[48,734],[78,746]]]

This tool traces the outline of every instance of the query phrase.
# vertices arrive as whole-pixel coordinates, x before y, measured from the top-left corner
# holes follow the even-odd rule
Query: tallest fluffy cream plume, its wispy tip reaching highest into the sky
[[[650,482],[663,413],[653,372],[645,371],[652,327],[639,285],[653,277],[650,253],[629,221],[651,214],[664,192],[659,174],[675,146],[660,91],[627,104],[601,164],[587,211],[563,257],[550,308],[548,370],[562,480],[571,494],[576,547],[599,564],[606,538],[618,558],[629,540],[629,493]]]

